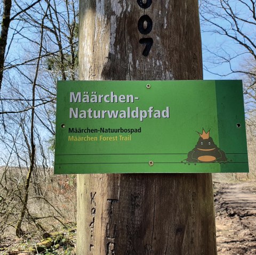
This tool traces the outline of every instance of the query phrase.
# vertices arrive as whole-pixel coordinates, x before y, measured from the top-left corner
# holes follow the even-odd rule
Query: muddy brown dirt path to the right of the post
[[[214,183],[218,255],[256,254],[256,183]]]

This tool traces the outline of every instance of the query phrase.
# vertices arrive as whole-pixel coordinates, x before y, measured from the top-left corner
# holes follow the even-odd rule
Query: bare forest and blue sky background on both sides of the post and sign
[[[198,4],[204,79],[243,79],[244,84],[250,174],[214,178],[253,181],[256,4]],[[24,240],[38,243],[42,233],[54,232],[54,238],[48,236],[51,246],[58,240],[63,254],[73,254],[69,236],[76,226],[76,176],[54,176],[53,159],[57,80],[78,79],[78,1],[2,0],[0,19],[0,242],[16,236],[19,245]],[[33,252],[38,253],[40,245]],[[50,254],[47,249],[41,252]]]

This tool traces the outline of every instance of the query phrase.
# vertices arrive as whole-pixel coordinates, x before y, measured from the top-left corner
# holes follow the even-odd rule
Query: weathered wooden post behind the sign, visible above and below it
[[[197,0],[79,2],[81,80],[202,79]],[[217,254],[211,174],[78,175],[77,185],[77,255]]]

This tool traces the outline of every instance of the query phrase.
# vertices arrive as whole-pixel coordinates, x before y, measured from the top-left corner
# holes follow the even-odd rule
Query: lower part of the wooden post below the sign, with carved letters
[[[78,175],[78,187],[77,254],[217,254],[211,174]]]

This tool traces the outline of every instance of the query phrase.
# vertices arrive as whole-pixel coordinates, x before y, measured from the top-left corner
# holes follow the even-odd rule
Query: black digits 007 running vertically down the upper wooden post
[[[138,5],[142,8],[142,9],[148,9],[150,7],[150,5],[152,4],[152,0],[137,0]],[[147,23],[147,27],[144,27],[145,22]],[[143,15],[140,17],[139,21],[138,21],[138,29],[140,34],[142,35],[147,35],[151,32],[153,28],[153,22],[151,20],[151,18],[148,15]],[[153,39],[152,38],[141,38],[139,40],[140,44],[146,44],[145,49],[142,52],[143,56],[147,56],[151,50],[151,47],[153,45]]]

